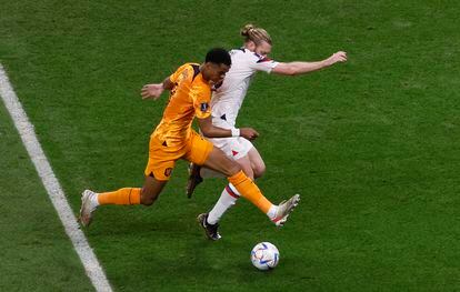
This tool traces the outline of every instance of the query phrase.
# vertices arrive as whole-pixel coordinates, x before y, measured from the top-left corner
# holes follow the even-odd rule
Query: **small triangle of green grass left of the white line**
[[[0,291],[91,290],[21,140],[0,107]]]

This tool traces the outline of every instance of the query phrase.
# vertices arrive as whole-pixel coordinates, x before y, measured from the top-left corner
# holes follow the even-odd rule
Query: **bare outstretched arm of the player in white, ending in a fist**
[[[347,53],[339,51],[333,53],[328,59],[318,62],[289,62],[289,63],[279,63],[273,68],[271,72],[281,74],[281,75],[299,75],[313,72],[327,67],[330,67],[337,62],[346,62]]]

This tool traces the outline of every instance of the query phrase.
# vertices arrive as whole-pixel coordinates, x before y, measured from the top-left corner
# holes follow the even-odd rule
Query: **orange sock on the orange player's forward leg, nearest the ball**
[[[242,198],[249,200],[263,213],[267,214],[269,212],[273,204],[266,197],[263,197],[256,183],[248,178],[242,170],[228,178],[228,180],[234,185],[234,188],[237,188]]]

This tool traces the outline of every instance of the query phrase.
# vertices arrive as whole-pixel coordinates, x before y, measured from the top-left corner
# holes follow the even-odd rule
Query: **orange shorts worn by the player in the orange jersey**
[[[176,161],[186,159],[190,162],[202,165],[211,153],[213,144],[204,140],[196,131],[183,144],[168,147],[164,141],[160,141],[153,134],[149,143],[149,162],[144,174],[156,178],[159,181],[168,181],[171,178]]]

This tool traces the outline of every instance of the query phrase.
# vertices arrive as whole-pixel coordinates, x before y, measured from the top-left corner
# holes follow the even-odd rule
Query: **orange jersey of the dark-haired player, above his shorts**
[[[203,80],[199,68],[199,64],[186,63],[169,77],[174,88],[152,134],[168,145],[183,144],[190,138],[193,118],[211,114],[211,85]]]

